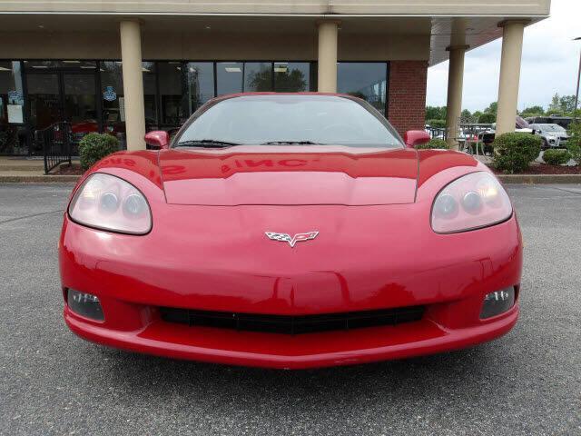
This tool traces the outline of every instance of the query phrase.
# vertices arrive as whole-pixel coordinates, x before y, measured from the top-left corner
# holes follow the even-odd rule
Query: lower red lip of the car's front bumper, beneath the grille
[[[117,331],[87,322],[64,309],[80,337],[114,348],[176,359],[275,369],[307,369],[401,359],[491,341],[517,322],[518,306],[491,322],[447,329],[429,319],[349,332],[284,335],[173,325],[154,320],[142,330]]]

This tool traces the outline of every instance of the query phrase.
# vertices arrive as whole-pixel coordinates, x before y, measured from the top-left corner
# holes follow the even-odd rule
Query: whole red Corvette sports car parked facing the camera
[[[310,368],[444,352],[517,322],[522,242],[467,154],[341,94],[233,94],[74,188],[64,319],[133,352]]]

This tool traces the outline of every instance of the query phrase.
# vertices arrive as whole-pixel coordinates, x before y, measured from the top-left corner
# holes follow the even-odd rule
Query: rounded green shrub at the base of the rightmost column
[[[541,153],[541,143],[534,134],[501,134],[492,143],[494,165],[504,173],[522,173]]]

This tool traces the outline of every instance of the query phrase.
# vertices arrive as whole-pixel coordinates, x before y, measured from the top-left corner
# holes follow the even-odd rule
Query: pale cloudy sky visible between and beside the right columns
[[[554,94],[576,92],[581,41],[581,0],[552,0],[551,16],[525,28],[518,110],[533,105],[547,109]],[[466,54],[462,108],[483,110],[498,95],[500,49],[498,39]],[[448,62],[428,69],[429,106],[446,105]]]

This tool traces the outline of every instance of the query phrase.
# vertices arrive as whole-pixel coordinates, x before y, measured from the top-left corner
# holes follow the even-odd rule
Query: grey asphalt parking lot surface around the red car
[[[508,188],[526,246],[521,318],[507,336],[306,372],[75,337],[56,259],[70,190],[0,184],[1,434],[581,434],[581,185]]]

